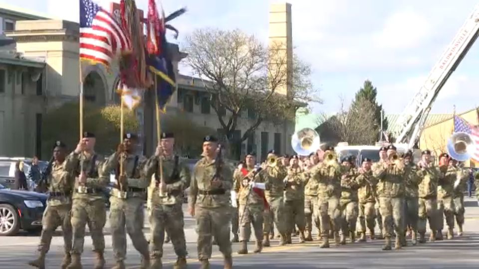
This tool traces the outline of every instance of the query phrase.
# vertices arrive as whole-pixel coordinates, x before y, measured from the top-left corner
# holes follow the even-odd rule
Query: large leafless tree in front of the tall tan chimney
[[[206,28],[188,36],[184,50],[188,66],[208,80],[205,87],[211,106],[231,144],[247,139],[263,121],[284,123],[294,119],[297,107],[320,102],[309,79],[310,66],[297,57],[288,59],[281,44],[267,47],[240,30]],[[286,87],[285,95],[281,89]],[[245,110],[255,117],[235,140],[233,134]]]

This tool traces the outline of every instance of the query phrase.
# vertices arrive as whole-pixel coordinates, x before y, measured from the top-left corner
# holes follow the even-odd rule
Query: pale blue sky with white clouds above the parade
[[[117,2],[119,0],[116,0]],[[0,0],[2,4],[11,0]],[[111,0],[96,0],[109,8]],[[137,0],[148,10],[148,0]],[[158,2],[158,0],[157,0]],[[196,28],[239,28],[264,43],[268,11],[277,0],[163,0],[166,14],[183,6],[188,12],[172,21],[185,36]],[[334,113],[348,106],[366,79],[378,90],[387,114],[399,114],[413,99],[476,0],[289,0],[295,52],[311,64],[311,80],[322,104],[313,113]],[[45,4],[46,3],[46,4]],[[15,0],[55,18],[78,21],[77,0]],[[479,42],[478,42],[479,43]],[[453,113],[479,105],[479,45],[475,44],[441,90],[431,113]],[[180,72],[187,72],[180,68]],[[186,73],[186,75],[190,75]],[[343,100],[343,101],[342,101]]]

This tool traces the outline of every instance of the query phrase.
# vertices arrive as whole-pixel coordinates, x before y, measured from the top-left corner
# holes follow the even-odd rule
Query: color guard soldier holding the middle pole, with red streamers
[[[113,189],[110,193],[110,226],[113,244],[113,256],[116,265],[113,269],[124,269],[126,256],[126,232],[130,236],[135,249],[141,254],[141,268],[150,266],[148,242],[143,234],[144,209],[146,188],[149,178],[143,173],[146,162],[144,156],[135,154],[135,145],[138,142],[136,134],[124,134],[123,143],[120,143],[104,164],[104,170],[115,171],[110,184]],[[123,171],[120,171],[120,162],[123,162]],[[126,226],[126,232],[125,232]]]

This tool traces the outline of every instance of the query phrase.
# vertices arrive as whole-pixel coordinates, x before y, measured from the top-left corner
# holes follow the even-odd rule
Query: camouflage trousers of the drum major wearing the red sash
[[[260,242],[263,236],[263,211],[261,205],[240,205],[240,241],[249,241],[251,236],[251,224],[254,230],[256,242]]]

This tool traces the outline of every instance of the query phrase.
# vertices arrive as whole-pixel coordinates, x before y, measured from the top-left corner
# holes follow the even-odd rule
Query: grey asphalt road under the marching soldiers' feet
[[[330,249],[319,249],[318,242],[298,244],[298,238],[293,238],[293,245],[277,246],[274,240],[272,247],[265,248],[261,254],[238,255],[236,251],[239,244],[233,244],[234,268],[281,268],[281,269],[312,269],[312,268],[367,268],[367,269],[477,269],[479,268],[479,207],[476,199],[466,198],[466,224],[464,235],[453,240],[437,241],[419,246],[408,246],[398,251],[381,251],[382,240],[365,243],[354,243]],[[187,216],[187,214],[185,214]],[[145,234],[149,235],[148,223]],[[194,220],[185,218],[185,231],[188,251],[188,263],[191,269],[198,269],[196,232]],[[111,249],[111,235],[109,225],[105,227],[105,242],[107,268],[114,265]],[[128,241],[127,268],[138,269],[140,256]],[[0,268],[25,269],[27,261],[35,258],[38,235],[21,234],[15,237],[0,238]],[[47,254],[46,268],[58,268],[63,256],[63,241],[61,232],[52,240],[51,248]],[[410,244],[409,244],[410,245]],[[254,248],[250,243],[249,249]],[[82,257],[83,268],[93,267],[93,254],[91,252],[91,239],[85,238],[85,252]],[[173,267],[176,257],[172,245],[165,245],[164,268]],[[212,269],[223,268],[223,259],[218,247],[213,248],[211,260]]]

